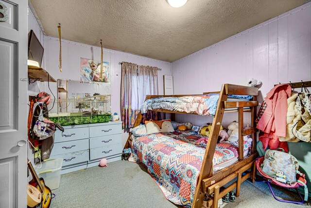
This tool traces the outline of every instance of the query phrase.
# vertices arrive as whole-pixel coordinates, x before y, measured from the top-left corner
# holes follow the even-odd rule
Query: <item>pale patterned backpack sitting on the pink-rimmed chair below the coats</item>
[[[261,164],[262,171],[273,178],[281,172],[287,184],[297,182],[298,168],[298,161],[293,155],[277,150],[267,150]]]

